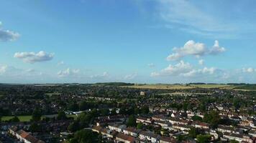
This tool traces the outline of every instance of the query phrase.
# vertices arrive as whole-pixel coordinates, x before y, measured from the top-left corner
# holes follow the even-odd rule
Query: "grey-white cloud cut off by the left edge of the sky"
[[[14,41],[18,39],[20,36],[19,33],[1,29],[1,21],[0,21],[0,41]]]

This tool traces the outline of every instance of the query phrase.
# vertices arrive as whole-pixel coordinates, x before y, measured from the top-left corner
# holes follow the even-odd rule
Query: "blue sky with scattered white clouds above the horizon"
[[[0,83],[256,83],[254,0],[0,0]]]

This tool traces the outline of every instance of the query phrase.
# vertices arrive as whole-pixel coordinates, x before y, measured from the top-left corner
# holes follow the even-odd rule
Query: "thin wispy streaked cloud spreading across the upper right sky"
[[[221,16],[214,16],[192,1],[156,0],[156,2],[157,16],[165,22],[163,26],[168,29],[178,29],[214,39],[237,39],[244,31],[256,30],[248,22],[241,21],[238,24],[226,21]]]

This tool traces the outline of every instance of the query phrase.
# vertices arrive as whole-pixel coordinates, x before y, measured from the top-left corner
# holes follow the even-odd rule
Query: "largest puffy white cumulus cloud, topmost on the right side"
[[[215,41],[214,46],[211,49],[206,48],[203,43],[196,43],[193,40],[189,40],[184,46],[173,48],[173,54],[170,54],[166,59],[168,61],[175,61],[183,58],[184,56],[204,56],[204,55],[216,55],[226,51],[224,47],[219,46],[219,41]]]

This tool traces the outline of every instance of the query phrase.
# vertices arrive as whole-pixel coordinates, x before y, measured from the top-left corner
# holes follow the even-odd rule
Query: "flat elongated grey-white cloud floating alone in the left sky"
[[[35,52],[17,52],[14,54],[15,58],[22,59],[27,63],[35,63],[41,61],[50,61],[54,54],[47,54],[45,51]]]

